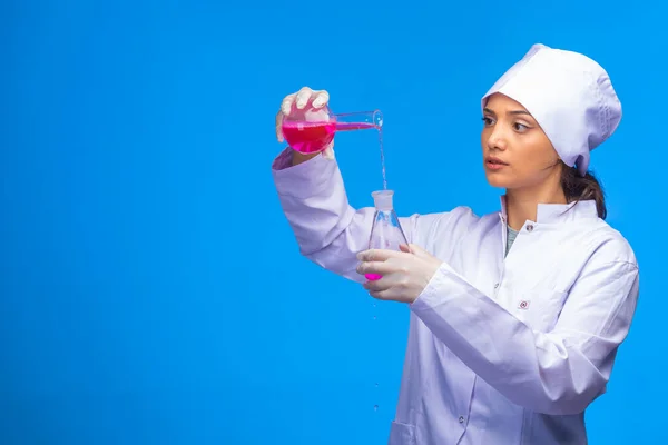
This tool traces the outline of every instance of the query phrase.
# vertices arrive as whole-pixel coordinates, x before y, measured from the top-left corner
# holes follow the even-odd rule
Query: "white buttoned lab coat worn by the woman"
[[[363,281],[374,209],[350,206],[336,160],[273,165],[301,253]],[[593,201],[540,205],[505,254],[505,210],[400,218],[444,261],[409,307],[390,445],[586,444],[584,408],[605,393],[638,298],[627,240]]]

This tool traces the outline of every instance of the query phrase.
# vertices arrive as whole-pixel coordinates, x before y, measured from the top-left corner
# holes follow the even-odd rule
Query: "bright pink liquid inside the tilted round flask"
[[[336,131],[366,130],[379,126],[367,122],[283,122],[283,136],[287,144],[303,154],[322,151],[332,142]]]

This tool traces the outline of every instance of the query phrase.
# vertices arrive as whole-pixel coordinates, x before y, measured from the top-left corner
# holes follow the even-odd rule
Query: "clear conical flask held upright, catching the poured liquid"
[[[394,211],[392,204],[393,190],[377,190],[371,194],[375,206],[373,218],[373,227],[371,228],[371,237],[369,238],[370,249],[391,249],[400,250],[400,245],[409,245],[406,236],[399,224],[399,217]],[[369,280],[381,279],[377,274],[365,274],[364,277]]]

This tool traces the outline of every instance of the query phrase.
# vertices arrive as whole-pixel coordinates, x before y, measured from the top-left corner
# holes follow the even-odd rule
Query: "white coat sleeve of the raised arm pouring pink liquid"
[[[273,162],[272,174],[283,212],[292,227],[299,251],[323,268],[354,281],[357,253],[369,247],[375,209],[353,208],[347,199],[336,160],[316,156],[292,166],[286,148]],[[399,218],[409,243],[415,243],[421,227],[448,214]]]

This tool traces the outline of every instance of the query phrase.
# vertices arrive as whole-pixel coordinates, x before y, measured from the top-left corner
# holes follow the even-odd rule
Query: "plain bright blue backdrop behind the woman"
[[[338,112],[380,108],[401,215],[493,211],[479,99],[538,41],[597,59],[625,107],[592,167],[641,297],[590,441],[668,442],[667,12],[3,1],[0,444],[385,443],[407,309],[299,256],[269,171],[274,115],[304,85]],[[352,204],[371,205],[375,137],[336,147]]]

